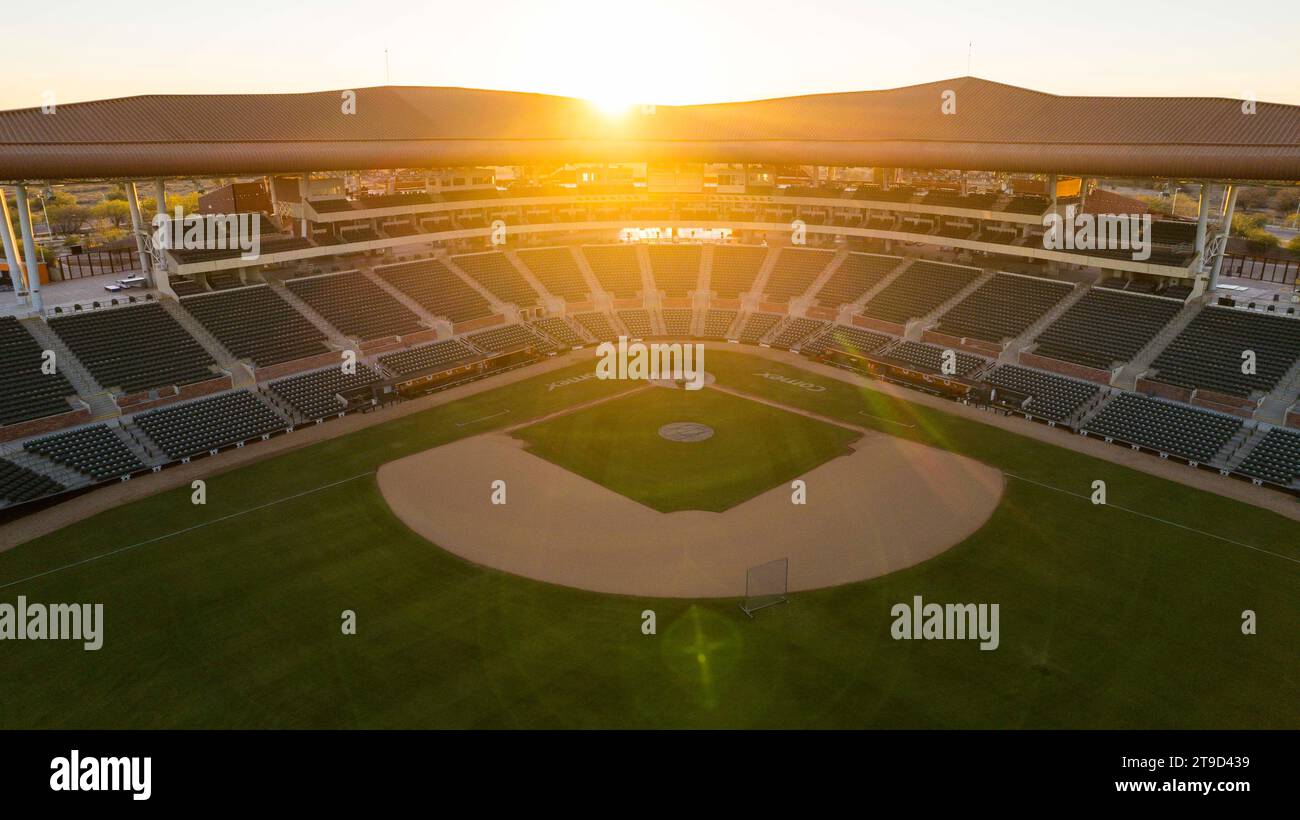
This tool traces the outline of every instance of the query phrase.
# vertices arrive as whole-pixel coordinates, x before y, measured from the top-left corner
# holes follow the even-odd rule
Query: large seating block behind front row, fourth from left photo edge
[[[286,285],[348,337],[378,339],[424,329],[404,304],[356,270],[290,279]]]

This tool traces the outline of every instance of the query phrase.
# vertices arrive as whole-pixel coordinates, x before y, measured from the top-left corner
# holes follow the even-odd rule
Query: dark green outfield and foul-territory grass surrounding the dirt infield
[[[719,383],[1017,478],[936,559],[754,621],[733,600],[474,567],[387,509],[373,476],[385,461],[629,389],[549,389],[592,368],[214,476],[205,507],[183,487],[0,554],[0,602],[105,606],[98,652],[0,643],[0,725],[1300,728],[1300,567],[1240,546],[1300,557],[1295,521],[741,352],[708,352]],[[1098,478],[1112,506],[1087,500]],[[892,641],[889,608],[913,595],[998,603],[1000,648]]]

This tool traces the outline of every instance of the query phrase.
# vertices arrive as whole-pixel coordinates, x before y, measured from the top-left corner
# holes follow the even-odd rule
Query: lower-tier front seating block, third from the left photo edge
[[[285,429],[285,420],[247,390],[140,413],[133,420],[169,459]]]

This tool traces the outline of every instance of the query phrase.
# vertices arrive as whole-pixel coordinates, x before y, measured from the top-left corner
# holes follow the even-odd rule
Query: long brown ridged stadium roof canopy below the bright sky
[[[944,92],[956,113],[944,113]],[[150,95],[0,112],[0,179],[575,161],[792,162],[1300,179],[1300,107],[1075,97],[976,78],[610,117],[468,88]]]

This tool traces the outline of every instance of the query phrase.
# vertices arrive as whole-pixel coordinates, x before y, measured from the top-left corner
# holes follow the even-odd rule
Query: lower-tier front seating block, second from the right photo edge
[[[1123,392],[1101,408],[1086,428],[1096,435],[1208,463],[1242,428],[1242,420]]]

